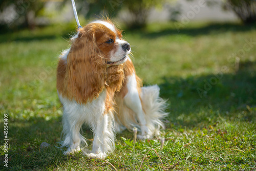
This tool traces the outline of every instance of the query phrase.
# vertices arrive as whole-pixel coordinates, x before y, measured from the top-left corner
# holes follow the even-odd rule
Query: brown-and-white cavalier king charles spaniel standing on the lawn
[[[115,132],[138,128],[139,139],[150,139],[164,128],[166,101],[159,87],[142,87],[129,56],[130,44],[110,20],[96,20],[78,29],[70,49],[60,55],[57,91],[63,105],[65,155],[82,150],[90,158],[114,151]],[[92,151],[81,126],[93,131]]]

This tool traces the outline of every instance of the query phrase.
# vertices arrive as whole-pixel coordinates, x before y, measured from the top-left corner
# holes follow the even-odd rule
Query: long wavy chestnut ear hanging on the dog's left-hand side
[[[67,57],[67,95],[78,103],[97,98],[105,84],[106,62],[93,30],[82,28]]]

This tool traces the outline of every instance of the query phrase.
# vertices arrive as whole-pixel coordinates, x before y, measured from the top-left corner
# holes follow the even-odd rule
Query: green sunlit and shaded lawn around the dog
[[[256,169],[255,25],[197,23],[178,33],[166,23],[123,33],[137,74],[146,85],[159,84],[170,114],[163,149],[160,138],[134,143],[133,133],[117,134],[106,158],[114,167],[80,153],[63,156],[58,148],[56,63],[74,30],[73,23],[0,34],[0,123],[8,114],[9,138],[8,168],[1,170],[138,170],[151,148],[164,167],[150,151],[141,170]],[[90,130],[84,136],[91,144]],[[51,146],[40,148],[42,142]]]

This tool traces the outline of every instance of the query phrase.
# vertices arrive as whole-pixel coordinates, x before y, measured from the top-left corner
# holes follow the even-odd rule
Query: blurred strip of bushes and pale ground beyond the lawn
[[[85,18],[108,15],[130,28],[141,28],[154,22],[255,23],[255,1],[250,0],[77,0],[78,14]],[[69,23],[74,19],[69,0],[3,0],[0,4],[1,28],[17,29]]]

